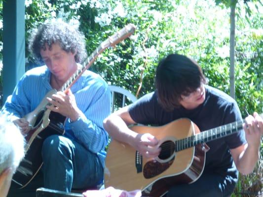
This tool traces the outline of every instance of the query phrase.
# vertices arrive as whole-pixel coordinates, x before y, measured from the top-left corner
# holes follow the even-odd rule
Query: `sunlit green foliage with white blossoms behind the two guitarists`
[[[107,49],[91,66],[106,81],[130,90],[138,97],[154,90],[158,61],[170,53],[195,59],[209,84],[229,94],[230,0],[26,0],[27,38],[39,23],[60,17],[85,34],[88,54],[128,23],[137,30]],[[2,5],[2,4],[0,4]],[[218,6],[220,5],[220,6]],[[263,109],[262,15],[260,3],[237,3],[236,100],[242,115]],[[242,11],[243,10],[243,11]],[[2,30],[2,29],[0,29]],[[1,53],[0,53],[1,55]],[[26,50],[27,65],[34,59]]]

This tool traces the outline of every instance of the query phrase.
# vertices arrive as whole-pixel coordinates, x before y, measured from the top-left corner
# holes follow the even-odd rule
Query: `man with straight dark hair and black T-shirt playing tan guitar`
[[[206,131],[242,119],[236,101],[206,85],[201,68],[186,56],[172,54],[161,60],[155,85],[155,92],[104,120],[105,129],[114,139],[128,143],[146,158],[158,157],[159,139],[147,131],[137,133],[127,126],[136,123],[163,126],[188,118],[200,131]],[[208,142],[210,150],[200,178],[191,184],[174,185],[167,197],[229,197],[238,171],[250,173],[259,159],[262,118],[256,112],[254,117],[248,116],[243,129]],[[175,132],[180,132],[180,128]]]

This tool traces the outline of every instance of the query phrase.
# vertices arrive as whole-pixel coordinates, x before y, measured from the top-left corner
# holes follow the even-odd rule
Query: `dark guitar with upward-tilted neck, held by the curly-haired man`
[[[60,91],[66,93],[81,74],[93,64],[99,54],[101,54],[106,48],[115,46],[121,40],[126,39],[134,33],[134,31],[135,26],[129,24],[102,42],[100,46],[97,47],[96,50],[84,61],[82,66],[80,66],[80,68],[77,69],[66,81]],[[19,164],[17,171],[12,178],[12,181],[15,182],[19,188],[24,188],[35,177],[42,166],[41,148],[45,138],[52,134],[63,135],[65,132],[64,124],[67,117],[46,108],[46,106],[50,104],[46,98],[51,98],[51,96],[56,93],[57,90],[55,89],[49,91],[38,107],[24,117],[29,122],[29,125],[31,125],[31,130],[25,137],[25,158]]]

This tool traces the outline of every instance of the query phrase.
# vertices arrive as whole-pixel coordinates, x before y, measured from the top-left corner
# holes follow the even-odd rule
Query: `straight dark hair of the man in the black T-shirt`
[[[168,55],[157,66],[155,87],[158,102],[167,111],[179,107],[182,96],[194,92],[201,83],[206,84],[201,67],[184,55]]]

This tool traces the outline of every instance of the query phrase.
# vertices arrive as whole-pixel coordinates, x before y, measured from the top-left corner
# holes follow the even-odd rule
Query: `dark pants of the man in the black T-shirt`
[[[166,197],[230,197],[237,179],[215,173],[203,173],[191,184],[177,185],[168,191]]]

